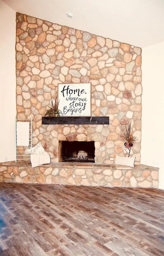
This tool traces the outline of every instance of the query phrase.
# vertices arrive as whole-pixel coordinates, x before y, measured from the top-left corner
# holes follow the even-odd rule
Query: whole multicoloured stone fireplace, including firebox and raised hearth
[[[33,146],[40,142],[51,164],[32,168],[23,161],[8,163],[0,166],[1,180],[158,187],[157,168],[140,165],[139,47],[17,13],[16,83],[17,118],[32,116]],[[108,117],[109,122],[43,124],[61,83],[91,83],[91,116]],[[129,123],[137,139],[130,151],[136,157],[134,168],[110,160],[128,156],[121,134]]]

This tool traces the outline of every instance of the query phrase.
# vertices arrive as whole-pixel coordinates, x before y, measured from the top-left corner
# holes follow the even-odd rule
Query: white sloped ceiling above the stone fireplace
[[[146,47],[164,41],[164,0],[3,0],[15,12]],[[73,19],[66,16],[74,15]]]

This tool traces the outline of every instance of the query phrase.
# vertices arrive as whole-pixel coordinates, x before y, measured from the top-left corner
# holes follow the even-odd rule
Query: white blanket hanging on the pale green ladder
[[[29,122],[16,123],[16,137],[17,146],[29,146]]]

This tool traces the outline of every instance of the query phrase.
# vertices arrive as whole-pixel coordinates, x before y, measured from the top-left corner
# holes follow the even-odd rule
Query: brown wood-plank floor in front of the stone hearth
[[[0,255],[163,256],[163,202],[159,189],[0,183]]]

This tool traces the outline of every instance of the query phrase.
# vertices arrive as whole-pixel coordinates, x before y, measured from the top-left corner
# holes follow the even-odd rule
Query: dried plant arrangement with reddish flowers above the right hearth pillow
[[[128,148],[129,150],[129,155],[130,156],[130,149],[133,147],[134,142],[137,140],[135,136],[133,136],[133,133],[131,132],[131,123],[128,125],[128,129],[125,125],[126,133],[121,135],[122,140],[126,140],[127,142],[124,143],[125,147]]]

